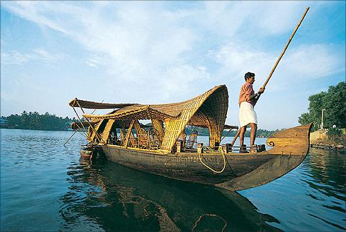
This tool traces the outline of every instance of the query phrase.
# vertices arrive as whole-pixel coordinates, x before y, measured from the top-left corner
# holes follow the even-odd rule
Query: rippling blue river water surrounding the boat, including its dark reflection
[[[1,129],[1,231],[345,231],[345,154],[311,149],[284,177],[232,193],[91,165],[81,135],[62,146],[71,134]]]

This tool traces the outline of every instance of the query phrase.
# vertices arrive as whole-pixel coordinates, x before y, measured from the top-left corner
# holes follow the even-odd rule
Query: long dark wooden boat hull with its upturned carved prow
[[[222,173],[215,173],[206,168],[199,160],[198,153],[164,154],[109,144],[103,144],[100,147],[108,160],[124,166],[177,180],[212,184],[223,189],[238,191],[271,182],[297,167],[309,150],[309,128],[310,125],[286,130],[286,135],[296,137],[300,142],[304,141],[304,144],[300,144],[299,150],[298,145],[292,138],[289,139],[290,137],[282,138],[289,141],[288,144],[284,144],[280,140],[280,135],[283,135],[280,132],[278,137],[274,135],[268,138],[267,143],[273,144],[275,141],[278,144],[277,146],[273,144],[274,148],[269,151],[225,154],[226,168]],[[306,136],[304,138],[298,136],[299,133]],[[292,141],[293,143],[291,143]],[[292,148],[290,148],[290,144]],[[284,153],[284,151],[288,151],[288,153]],[[221,153],[200,155],[203,162],[213,169],[221,170],[223,168],[224,157]]]

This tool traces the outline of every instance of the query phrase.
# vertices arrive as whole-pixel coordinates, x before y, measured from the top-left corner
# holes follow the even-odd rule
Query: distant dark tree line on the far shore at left
[[[44,115],[39,115],[37,112],[26,112],[25,110],[21,115],[10,115],[8,117],[1,117],[7,119],[6,125],[1,125],[2,128],[10,129],[30,129],[30,130],[47,130],[47,131],[67,131],[75,118],[57,117],[50,115],[46,112]]]

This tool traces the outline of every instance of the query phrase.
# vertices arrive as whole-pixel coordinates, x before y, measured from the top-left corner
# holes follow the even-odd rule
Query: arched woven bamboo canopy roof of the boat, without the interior
[[[75,101],[74,101],[75,100]],[[74,99],[70,106],[90,106],[84,104],[93,101],[83,101]],[[78,101],[78,102],[76,102]],[[93,105],[97,105],[93,103]],[[118,106],[119,109],[113,110],[106,115],[83,114],[86,119],[93,122],[102,119],[120,121],[122,124],[130,125],[131,122],[138,122],[140,119],[151,119],[152,122],[164,122],[165,129],[162,138],[161,149],[172,151],[172,148],[179,135],[184,131],[186,125],[200,126],[208,128],[210,132],[210,146],[215,146],[221,140],[221,133],[224,131],[226,115],[228,110],[228,90],[225,85],[215,86],[197,97],[188,101],[172,104],[109,104]],[[102,105],[98,105],[102,106]],[[120,107],[121,106],[121,107]],[[116,108],[116,107],[114,107]]]

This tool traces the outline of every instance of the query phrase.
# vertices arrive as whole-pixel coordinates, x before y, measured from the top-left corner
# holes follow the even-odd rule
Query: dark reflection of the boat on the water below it
[[[225,222],[224,231],[280,231],[266,224],[278,222],[275,218],[258,213],[238,193],[136,171],[102,158],[92,165],[80,160],[69,169],[71,186],[60,199],[62,231],[221,231]]]

